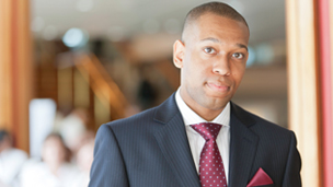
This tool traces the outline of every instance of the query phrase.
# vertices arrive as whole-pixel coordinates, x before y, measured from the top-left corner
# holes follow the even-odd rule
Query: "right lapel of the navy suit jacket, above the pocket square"
[[[259,137],[249,128],[254,124],[254,119],[248,113],[232,104],[229,186],[248,184],[259,143]]]

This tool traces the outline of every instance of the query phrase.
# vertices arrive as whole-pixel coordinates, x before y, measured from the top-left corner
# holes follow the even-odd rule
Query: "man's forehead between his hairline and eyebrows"
[[[214,13],[203,14],[192,21],[186,30],[185,38],[191,38],[191,40],[213,37],[221,40],[237,39],[239,43],[248,45],[250,35],[249,28],[243,22]]]

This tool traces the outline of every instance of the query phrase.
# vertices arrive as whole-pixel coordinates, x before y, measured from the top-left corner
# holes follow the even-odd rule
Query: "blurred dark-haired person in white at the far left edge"
[[[19,173],[27,160],[27,154],[12,144],[10,133],[0,130],[0,187],[18,187]]]

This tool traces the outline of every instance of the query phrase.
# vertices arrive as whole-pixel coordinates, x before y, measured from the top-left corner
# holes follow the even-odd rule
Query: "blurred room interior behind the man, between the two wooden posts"
[[[51,98],[62,116],[85,110],[91,130],[160,104],[179,87],[173,43],[186,13],[203,2],[31,1],[35,97]],[[251,31],[234,102],[287,127],[285,2],[226,2]]]

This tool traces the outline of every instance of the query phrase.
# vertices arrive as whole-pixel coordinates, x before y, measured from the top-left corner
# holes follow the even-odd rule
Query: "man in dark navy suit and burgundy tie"
[[[249,35],[231,7],[194,8],[174,44],[180,89],[158,107],[100,128],[90,187],[301,186],[294,132],[230,102]]]

